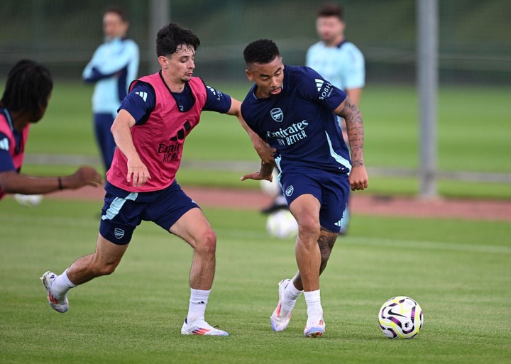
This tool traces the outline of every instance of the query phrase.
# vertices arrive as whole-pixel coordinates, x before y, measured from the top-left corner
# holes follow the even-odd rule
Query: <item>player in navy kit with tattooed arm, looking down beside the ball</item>
[[[304,335],[325,329],[319,275],[339,234],[349,190],[366,189],[363,121],[346,93],[309,67],[285,66],[272,40],[256,40],[243,52],[246,75],[255,82],[241,104],[241,114],[260,138],[277,150],[275,163],[287,203],[298,223],[295,248],[299,271],[279,283],[279,302],[271,316],[274,331],[289,324],[302,291],[307,302]],[[351,158],[336,115],[346,119]],[[244,175],[268,178],[273,165]]]

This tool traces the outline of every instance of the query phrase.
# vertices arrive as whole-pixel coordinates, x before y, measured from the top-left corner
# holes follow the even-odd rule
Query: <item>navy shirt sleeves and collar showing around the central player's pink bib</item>
[[[207,100],[202,111],[216,111],[225,114],[231,109],[231,96],[224,94],[213,87],[205,86]],[[183,92],[170,92],[174,97],[180,111],[188,111],[195,103],[189,84],[185,84]],[[147,121],[151,111],[155,107],[155,91],[145,82],[138,81],[131,92],[123,99],[119,110],[124,109],[133,116],[137,125]]]

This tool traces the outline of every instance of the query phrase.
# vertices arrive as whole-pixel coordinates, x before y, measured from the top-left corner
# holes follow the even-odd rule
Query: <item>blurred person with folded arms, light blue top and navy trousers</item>
[[[128,27],[126,11],[118,6],[106,9],[103,13],[104,43],[99,45],[82,73],[85,82],[95,84],[92,94],[94,132],[105,172],[110,169],[116,148],[110,128],[138,72],[138,45],[126,38]]]

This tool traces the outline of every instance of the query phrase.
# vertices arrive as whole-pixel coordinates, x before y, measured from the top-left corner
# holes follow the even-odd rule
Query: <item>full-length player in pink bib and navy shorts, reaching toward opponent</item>
[[[199,206],[177,184],[175,174],[185,138],[202,111],[236,116],[243,125],[241,103],[192,77],[200,44],[192,31],[170,23],[156,38],[161,70],[131,84],[111,129],[117,149],[106,173],[96,252],[77,259],[61,275],[45,272],[41,280],[50,306],[67,311],[67,292],[114,272],[136,226],[153,221],[194,250],[189,309],[181,333],[226,336],[226,331],[204,319],[214,278],[216,235]]]

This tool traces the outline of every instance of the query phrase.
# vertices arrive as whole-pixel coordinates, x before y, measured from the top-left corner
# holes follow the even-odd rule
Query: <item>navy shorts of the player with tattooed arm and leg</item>
[[[279,182],[288,206],[302,194],[312,194],[321,204],[319,224],[322,228],[334,233],[341,231],[343,211],[350,192],[348,175],[323,170],[282,172]]]

